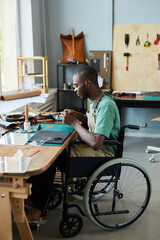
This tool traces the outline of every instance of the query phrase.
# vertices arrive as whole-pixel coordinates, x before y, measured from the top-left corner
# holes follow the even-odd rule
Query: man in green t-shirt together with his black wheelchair
[[[107,158],[113,159],[114,156],[117,156],[117,145],[104,145],[104,142],[106,139],[112,139],[115,142],[119,139],[120,116],[115,102],[112,97],[103,94],[98,86],[97,72],[89,66],[78,69],[73,76],[73,84],[77,96],[90,99],[90,110],[86,115],[69,109],[65,109],[61,113],[62,122],[72,126],[84,142],[83,144],[74,144],[69,148],[69,158],[74,160],[86,158],[91,160],[90,165],[92,165],[92,160],[96,161],[96,158],[102,158],[102,163],[106,162]],[[121,155],[118,157],[121,157]],[[45,222],[46,215],[42,212],[53,185],[56,167],[59,166],[60,169],[63,169],[66,159],[67,154],[64,151],[46,172],[29,179],[29,182],[32,183],[32,194],[30,196],[32,207],[26,212],[29,223],[37,223],[40,219],[41,222]],[[78,165],[81,165],[81,160]],[[79,168],[78,165],[77,168]],[[89,167],[92,168],[92,166]],[[143,213],[150,198],[150,183],[146,171],[139,164],[128,159],[123,161],[121,159],[113,160],[110,163],[106,162],[102,167],[100,165],[97,167],[97,171],[94,169],[90,172],[91,177],[84,191],[83,201],[87,216],[102,228],[116,229],[129,225]],[[75,172],[75,169],[73,171]],[[86,176],[80,175],[80,177]],[[140,181],[140,183],[137,181]],[[123,184],[127,182],[133,185],[131,189],[130,186],[126,187],[125,185],[124,190],[129,189],[132,192],[134,183],[135,188],[137,186],[141,187],[141,189],[136,189],[139,192],[137,202],[135,201],[136,203],[133,204],[134,201],[130,201],[133,206],[128,203],[130,198],[127,196],[125,199],[125,193],[122,192]],[[64,195],[64,198],[66,198],[66,195]],[[125,205],[126,202],[127,205]],[[107,209],[104,211],[105,207]],[[60,224],[60,232],[65,237],[75,236],[82,227],[82,221],[77,215],[65,214],[68,211],[66,209],[68,209],[68,206],[64,200],[64,218]],[[100,216],[102,216],[101,219],[99,219]],[[125,219],[126,216],[127,220]],[[66,229],[69,233],[66,233]],[[70,231],[73,231],[73,233]]]

